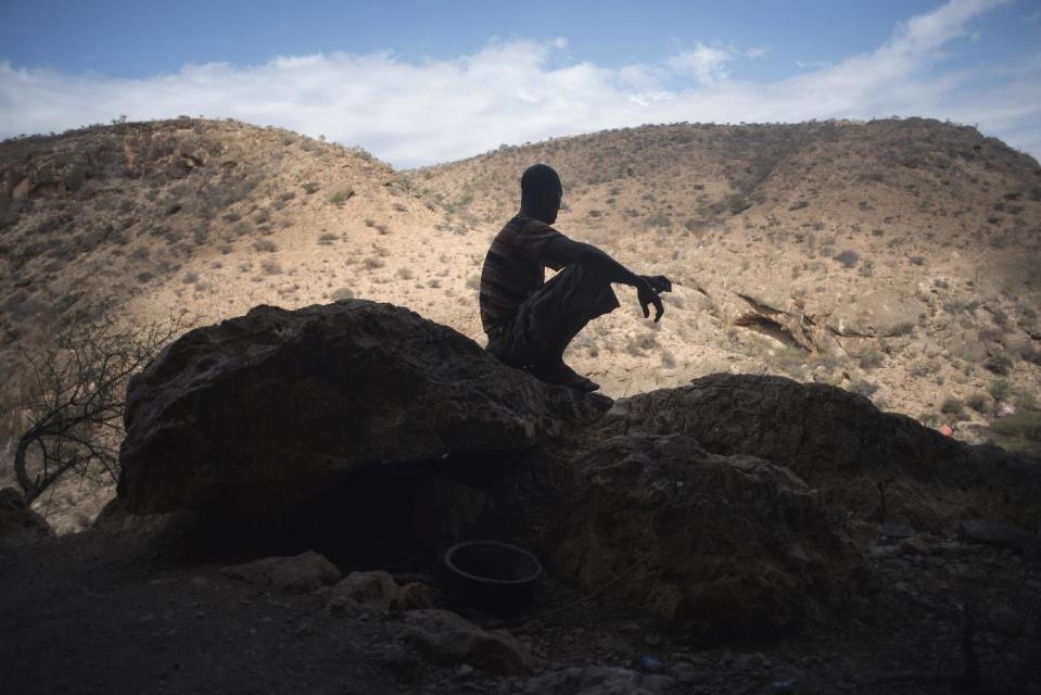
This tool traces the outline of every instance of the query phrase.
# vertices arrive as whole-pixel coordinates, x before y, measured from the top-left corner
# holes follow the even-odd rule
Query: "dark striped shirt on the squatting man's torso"
[[[546,243],[562,237],[546,223],[520,215],[496,235],[481,273],[481,323],[485,333],[509,326],[521,303],[543,286]]]

